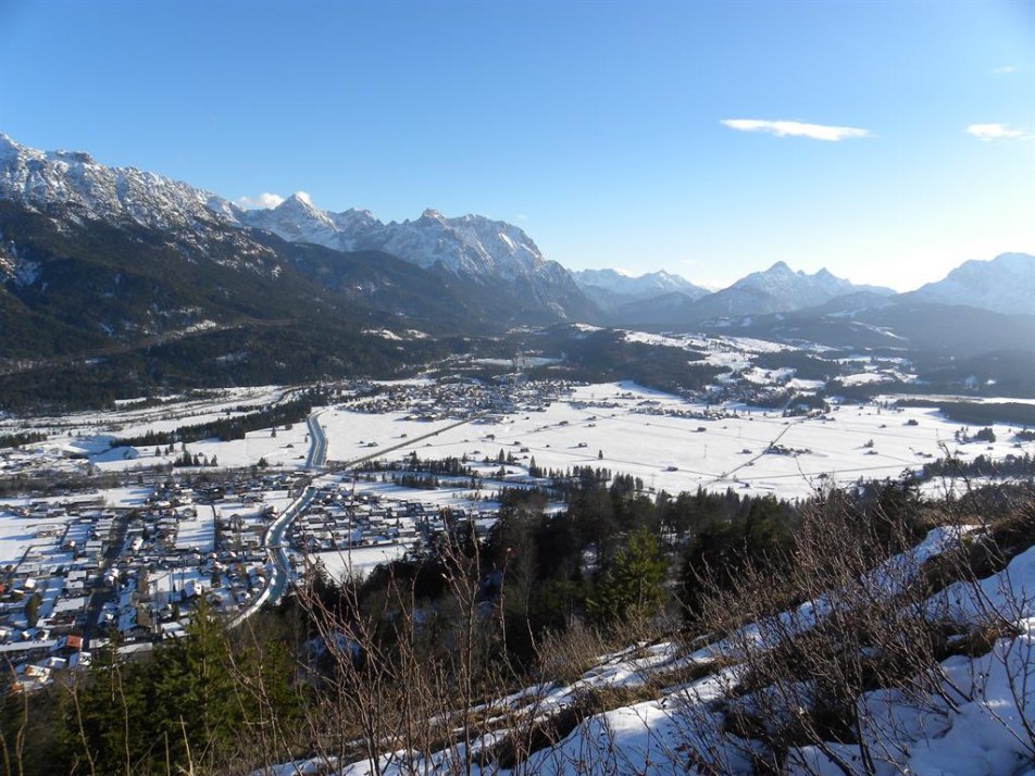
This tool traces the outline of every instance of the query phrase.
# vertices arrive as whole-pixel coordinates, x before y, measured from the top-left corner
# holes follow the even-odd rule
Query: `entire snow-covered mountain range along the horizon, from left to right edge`
[[[807,310],[860,292],[912,303],[1035,313],[1035,258],[1022,253],[967,262],[944,280],[901,297],[887,288],[853,285],[826,270],[795,272],[784,262],[712,293],[665,272],[638,277],[614,270],[569,273],[548,261],[523,229],[481,215],[447,217],[426,210],[415,220],[384,223],[366,210],[321,210],[302,193],[276,208],[246,210],[154,173],[109,167],[82,152],[38,151],[0,134],[4,200],[75,223],[162,230],[194,259],[219,256],[215,261],[223,265],[273,276],[283,261],[253,229],[333,251],[379,251],[435,274],[471,299],[474,309],[498,311],[504,322],[688,325],[719,316]],[[219,250],[210,250],[213,247]],[[16,245],[0,240],[0,274],[16,281],[32,277],[33,267],[20,255]],[[339,276],[333,271],[333,254],[321,261],[323,275]]]

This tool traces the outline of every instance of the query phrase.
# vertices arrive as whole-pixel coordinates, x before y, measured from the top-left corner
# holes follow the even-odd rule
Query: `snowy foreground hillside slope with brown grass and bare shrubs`
[[[720,597],[726,611],[706,617],[732,626],[723,636],[636,643],[574,681],[471,710],[479,733],[470,744],[386,751],[376,763],[319,756],[277,773],[1026,776],[1035,548],[1007,539],[1018,530],[1027,543],[1023,518],[1006,530],[934,528],[862,573],[862,554],[827,530],[805,545],[835,563],[812,556],[794,575],[827,587],[795,608],[745,622]]]

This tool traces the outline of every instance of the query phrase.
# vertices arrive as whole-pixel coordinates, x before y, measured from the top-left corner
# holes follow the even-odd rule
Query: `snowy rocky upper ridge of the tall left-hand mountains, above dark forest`
[[[61,217],[164,230],[194,260],[219,255],[235,268],[262,273],[279,272],[279,264],[276,251],[249,234],[257,227],[291,242],[382,251],[441,275],[433,287],[454,287],[472,309],[501,323],[596,315],[568,272],[544,260],[524,231],[483,216],[446,218],[425,211],[413,222],[382,224],[366,211],[325,213],[298,195],[272,211],[246,211],[161,175],[108,167],[86,153],[37,151],[5,135],[0,199]],[[17,264],[16,251],[4,251],[0,273],[17,276]]]

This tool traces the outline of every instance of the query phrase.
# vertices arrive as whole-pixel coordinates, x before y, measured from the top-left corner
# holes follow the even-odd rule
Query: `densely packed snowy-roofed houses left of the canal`
[[[183,633],[194,603],[237,613],[266,586],[263,537],[276,516],[270,492],[302,487],[294,473],[222,483],[158,485],[139,508],[103,499],[0,506],[0,660],[32,690],[84,664],[117,634],[148,649]]]

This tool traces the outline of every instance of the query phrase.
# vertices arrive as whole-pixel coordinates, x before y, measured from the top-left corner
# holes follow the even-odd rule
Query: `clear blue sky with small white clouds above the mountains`
[[[710,285],[1035,253],[1033,0],[0,0],[0,132],[228,199],[482,213]]]

